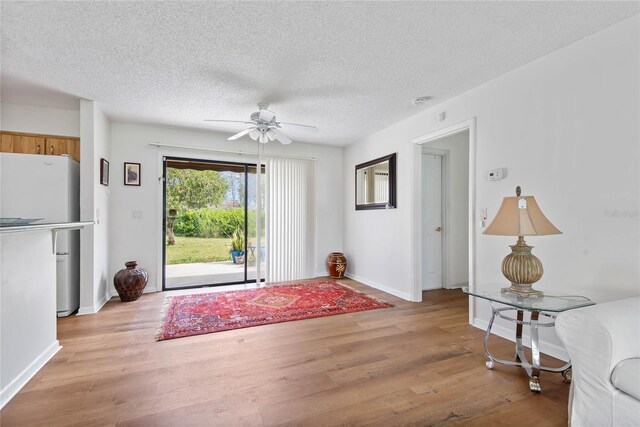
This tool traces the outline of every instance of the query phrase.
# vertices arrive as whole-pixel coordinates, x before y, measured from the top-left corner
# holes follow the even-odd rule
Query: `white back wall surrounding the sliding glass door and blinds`
[[[162,245],[162,156],[252,162],[255,155],[214,153],[203,150],[157,148],[150,142],[218,150],[257,153],[258,145],[248,138],[227,141],[229,133],[179,128],[113,123],[111,126],[110,267],[108,277],[124,268],[125,261],[137,260],[149,272],[145,291],[162,290],[159,250]],[[265,155],[315,157],[316,160],[316,274],[326,275],[325,258],[343,249],[342,148],[294,142],[283,146],[271,142],[263,146]],[[141,163],[141,186],[123,184],[124,162]],[[141,213],[134,219],[132,211]],[[112,284],[110,284],[111,287]]]

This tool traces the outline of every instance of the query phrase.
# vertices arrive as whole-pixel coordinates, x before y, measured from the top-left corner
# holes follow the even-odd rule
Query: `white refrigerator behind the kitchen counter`
[[[0,153],[0,217],[79,221],[80,164],[67,156]],[[80,306],[79,230],[58,232],[56,261],[58,317],[68,316]]]

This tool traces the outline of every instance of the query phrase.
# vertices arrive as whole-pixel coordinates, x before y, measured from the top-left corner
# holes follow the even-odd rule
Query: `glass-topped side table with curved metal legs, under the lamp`
[[[499,285],[494,286],[467,286],[462,291],[477,298],[482,298],[491,304],[491,320],[487,327],[487,333],[484,337],[484,351],[489,359],[486,362],[487,369],[493,369],[495,363],[501,363],[509,366],[520,366],[529,375],[529,389],[531,391],[540,392],[540,371],[561,372],[565,381],[571,381],[568,371],[571,369],[571,361],[565,365],[551,368],[540,366],[540,348],[538,347],[538,328],[555,326],[556,314],[574,308],[586,307],[595,303],[588,298],[578,295],[547,295],[521,297],[515,294],[507,294],[500,290]],[[497,304],[506,305],[506,307],[496,307]],[[510,317],[505,312],[515,311],[515,317]],[[524,312],[531,313],[529,321],[524,320]],[[496,316],[513,322],[516,324],[516,355],[515,361],[499,359],[489,352],[489,336],[491,336],[491,328]],[[549,320],[546,323],[539,321],[540,316],[544,316]],[[531,363],[524,354],[522,345],[522,327],[529,326],[531,335]]]

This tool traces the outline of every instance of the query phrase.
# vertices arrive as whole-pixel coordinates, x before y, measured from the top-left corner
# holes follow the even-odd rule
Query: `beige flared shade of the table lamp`
[[[535,197],[513,196],[502,205],[482,234],[495,236],[546,236],[562,234],[540,210]]]

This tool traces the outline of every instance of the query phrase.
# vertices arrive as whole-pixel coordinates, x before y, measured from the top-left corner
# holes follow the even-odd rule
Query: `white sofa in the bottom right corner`
[[[569,425],[640,426],[640,297],[558,315],[572,363]]]

